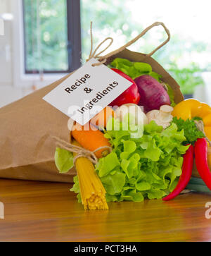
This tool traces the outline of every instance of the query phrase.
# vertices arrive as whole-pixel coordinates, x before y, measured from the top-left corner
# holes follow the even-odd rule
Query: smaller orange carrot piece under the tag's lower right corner
[[[106,127],[106,123],[110,117],[115,117],[115,111],[110,106],[106,106],[94,118],[91,118],[90,123],[94,126]]]

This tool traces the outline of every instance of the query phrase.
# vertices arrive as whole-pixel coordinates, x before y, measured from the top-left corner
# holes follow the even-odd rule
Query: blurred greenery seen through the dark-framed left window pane
[[[66,0],[24,0],[27,71],[68,70]]]

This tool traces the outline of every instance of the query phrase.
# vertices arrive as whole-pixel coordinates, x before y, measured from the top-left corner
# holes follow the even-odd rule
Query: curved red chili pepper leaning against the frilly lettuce
[[[186,188],[186,185],[188,185],[188,182],[191,179],[193,169],[193,152],[194,148],[192,145],[190,145],[190,147],[183,156],[182,173],[176,188],[174,188],[170,195],[167,195],[166,197],[162,198],[162,200],[168,201],[174,199],[174,197],[177,197],[177,195],[179,195],[181,191],[184,190],[184,188]]]

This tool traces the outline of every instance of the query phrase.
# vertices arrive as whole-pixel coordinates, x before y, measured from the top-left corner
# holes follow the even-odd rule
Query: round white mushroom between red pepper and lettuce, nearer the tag
[[[138,125],[148,123],[148,118],[146,117],[146,114],[144,114],[141,107],[136,104],[123,104],[115,110],[115,114],[117,118],[120,119],[120,121],[123,121],[124,116],[131,114],[135,117],[134,124]]]

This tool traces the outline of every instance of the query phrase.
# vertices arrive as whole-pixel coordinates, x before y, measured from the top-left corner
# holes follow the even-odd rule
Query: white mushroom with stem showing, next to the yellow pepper
[[[149,111],[146,116],[148,118],[148,123],[151,121],[155,121],[158,126],[162,126],[163,128],[167,128],[170,126],[173,116],[171,115],[174,108],[169,105],[160,106],[160,110],[154,109]]]

